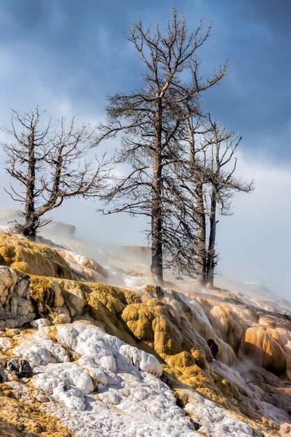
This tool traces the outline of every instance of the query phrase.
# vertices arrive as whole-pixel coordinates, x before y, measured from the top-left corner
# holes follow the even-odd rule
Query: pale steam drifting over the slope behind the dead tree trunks
[[[1,217],[1,216],[0,216]],[[149,246],[121,246],[118,244],[105,244],[96,242],[94,239],[82,239],[77,237],[77,230],[74,232],[72,225],[52,222],[43,228],[42,235],[46,239],[90,258],[93,258],[100,266],[108,272],[107,283],[113,286],[136,288],[151,284],[151,251]],[[251,304],[260,306],[271,311],[291,310],[290,303],[283,301],[283,295],[274,295],[271,290],[262,283],[248,283],[230,281],[227,278],[216,274],[214,285],[223,290],[229,290],[238,297],[247,300],[251,299]],[[192,295],[193,292],[205,292],[204,288],[197,284],[193,279],[184,277],[177,278],[169,271],[165,271],[165,288],[184,292]]]

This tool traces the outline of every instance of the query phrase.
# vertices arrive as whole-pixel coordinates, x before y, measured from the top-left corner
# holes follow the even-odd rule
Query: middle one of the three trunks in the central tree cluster
[[[207,282],[206,220],[204,212],[203,186],[197,179],[197,281],[204,286]]]

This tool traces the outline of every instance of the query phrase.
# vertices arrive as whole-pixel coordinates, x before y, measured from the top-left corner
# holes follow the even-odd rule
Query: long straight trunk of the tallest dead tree
[[[156,103],[153,180],[151,191],[151,274],[158,286],[163,286],[162,243],[162,105]]]

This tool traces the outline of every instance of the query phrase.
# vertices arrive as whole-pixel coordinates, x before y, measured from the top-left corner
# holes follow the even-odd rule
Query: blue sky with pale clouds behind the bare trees
[[[233,279],[264,281],[273,289],[278,284],[286,295],[291,288],[286,274],[291,238],[290,1],[0,0],[0,125],[9,124],[11,108],[23,111],[37,104],[52,117],[78,114],[80,121],[95,124],[105,116],[106,96],[140,87],[142,64],[124,31],[139,17],[163,27],[172,6],[184,13],[189,28],[200,18],[213,22],[200,51],[202,71],[211,73],[228,58],[230,73],[202,96],[203,107],[243,135],[239,171],[258,179],[255,193],[237,196],[234,216],[220,223],[221,271]],[[1,172],[0,183],[7,182]],[[13,207],[5,194],[2,205]],[[81,234],[82,228],[105,227],[104,238],[142,242],[142,222],[105,222],[90,202],[84,218],[75,213],[76,205],[65,204],[55,217],[77,223]],[[117,223],[127,229],[122,237]]]

